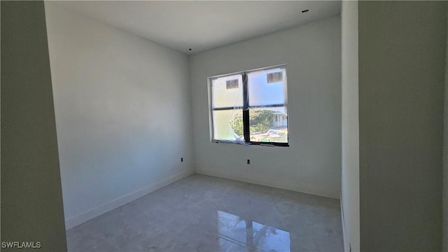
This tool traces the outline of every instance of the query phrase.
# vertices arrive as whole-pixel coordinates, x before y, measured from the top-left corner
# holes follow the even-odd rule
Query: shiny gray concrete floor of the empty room
[[[339,200],[192,175],[67,230],[69,251],[343,251]]]

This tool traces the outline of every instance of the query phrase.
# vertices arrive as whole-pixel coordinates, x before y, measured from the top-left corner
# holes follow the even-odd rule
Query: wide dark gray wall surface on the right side
[[[446,1],[359,1],[360,248],[440,251]]]

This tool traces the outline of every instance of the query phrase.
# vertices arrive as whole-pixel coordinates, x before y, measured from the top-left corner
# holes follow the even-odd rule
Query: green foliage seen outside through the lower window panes
[[[264,109],[251,109],[249,111],[249,124],[251,128],[251,133],[262,132],[269,130],[271,124],[272,112]],[[239,136],[244,134],[243,130],[243,113],[239,111],[230,120],[230,126],[233,128],[235,133]]]

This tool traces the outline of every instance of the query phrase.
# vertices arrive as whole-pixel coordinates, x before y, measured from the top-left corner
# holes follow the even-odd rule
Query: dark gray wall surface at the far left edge
[[[1,241],[66,251],[42,1],[1,1]]]

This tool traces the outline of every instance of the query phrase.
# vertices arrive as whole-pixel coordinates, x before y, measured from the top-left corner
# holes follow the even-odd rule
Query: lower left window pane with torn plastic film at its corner
[[[235,141],[233,134],[243,135],[243,116],[241,109],[213,111],[214,140]],[[241,134],[240,134],[241,133]],[[244,137],[242,137],[244,139]]]

